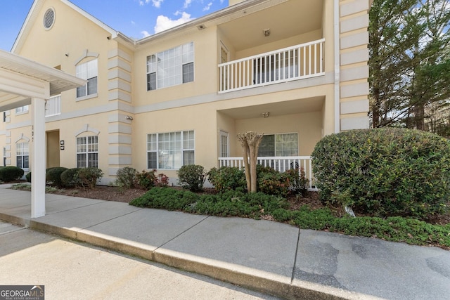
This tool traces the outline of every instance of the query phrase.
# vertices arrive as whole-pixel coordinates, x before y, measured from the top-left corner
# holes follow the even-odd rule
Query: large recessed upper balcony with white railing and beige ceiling
[[[333,63],[325,44],[333,32],[328,1],[250,4],[218,26],[219,93],[325,74],[327,60]]]

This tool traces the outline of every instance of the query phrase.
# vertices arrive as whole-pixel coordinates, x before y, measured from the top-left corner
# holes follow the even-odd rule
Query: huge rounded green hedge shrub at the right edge
[[[441,213],[450,199],[450,141],[410,129],[326,136],[312,153],[321,200],[378,216]]]

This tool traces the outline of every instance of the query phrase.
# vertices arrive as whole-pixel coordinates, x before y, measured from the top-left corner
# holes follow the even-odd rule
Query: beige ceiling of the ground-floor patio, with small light
[[[282,115],[293,115],[305,112],[320,112],[323,107],[325,97],[304,98],[262,105],[252,105],[246,107],[219,110],[233,119],[253,119],[260,118],[264,112],[269,112],[269,117]]]

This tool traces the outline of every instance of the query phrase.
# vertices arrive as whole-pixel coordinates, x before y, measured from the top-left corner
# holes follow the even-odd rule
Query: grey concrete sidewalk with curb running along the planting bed
[[[0,185],[0,219],[288,299],[449,299],[450,252]]]

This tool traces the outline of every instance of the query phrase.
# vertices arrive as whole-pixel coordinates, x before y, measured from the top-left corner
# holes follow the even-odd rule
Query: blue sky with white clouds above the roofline
[[[228,6],[228,0],[70,0],[113,29],[141,39]],[[0,49],[11,51],[33,0],[0,0]]]

